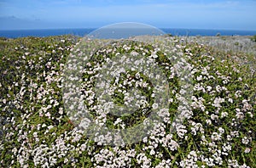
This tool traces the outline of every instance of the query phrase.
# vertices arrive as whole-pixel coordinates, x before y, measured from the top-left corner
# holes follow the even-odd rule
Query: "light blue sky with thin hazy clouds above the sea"
[[[256,0],[0,0],[0,30],[158,28],[256,31]]]

